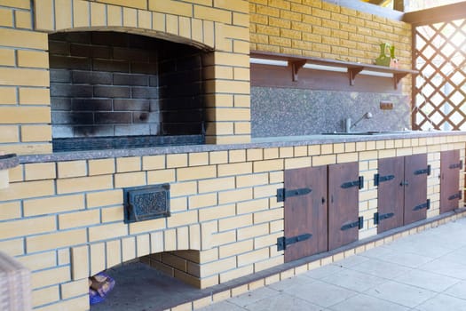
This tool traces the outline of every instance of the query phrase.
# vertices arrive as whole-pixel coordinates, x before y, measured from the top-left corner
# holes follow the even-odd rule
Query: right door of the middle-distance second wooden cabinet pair
[[[404,225],[427,216],[427,155],[405,156]]]

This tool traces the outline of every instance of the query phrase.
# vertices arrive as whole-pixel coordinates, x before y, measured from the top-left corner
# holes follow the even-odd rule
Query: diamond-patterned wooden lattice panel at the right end
[[[415,28],[413,128],[466,130],[466,20]]]

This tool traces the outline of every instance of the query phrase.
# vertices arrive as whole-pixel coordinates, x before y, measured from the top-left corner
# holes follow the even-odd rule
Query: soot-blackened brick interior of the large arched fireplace
[[[115,32],[49,47],[53,139],[203,135],[201,50]]]

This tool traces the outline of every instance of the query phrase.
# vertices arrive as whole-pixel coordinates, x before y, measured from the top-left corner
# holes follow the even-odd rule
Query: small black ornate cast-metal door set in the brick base
[[[123,189],[124,222],[170,217],[170,185]]]

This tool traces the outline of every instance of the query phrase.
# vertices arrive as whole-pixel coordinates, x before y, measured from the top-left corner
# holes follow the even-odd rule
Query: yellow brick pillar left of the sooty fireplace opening
[[[0,149],[51,152],[47,35],[32,29],[31,2],[0,1]]]

